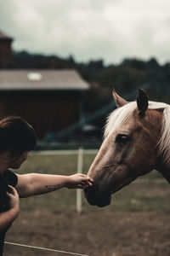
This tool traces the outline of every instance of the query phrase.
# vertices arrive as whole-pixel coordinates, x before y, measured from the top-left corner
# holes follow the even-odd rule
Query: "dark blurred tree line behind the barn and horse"
[[[155,58],[149,61],[124,59],[117,65],[105,65],[103,60],[78,62],[73,56],[61,58],[21,51],[14,52],[13,59],[14,68],[20,69],[76,69],[91,85],[84,98],[87,113],[109,104],[113,87],[123,96],[149,84],[150,100],[170,103],[170,63],[160,65]]]

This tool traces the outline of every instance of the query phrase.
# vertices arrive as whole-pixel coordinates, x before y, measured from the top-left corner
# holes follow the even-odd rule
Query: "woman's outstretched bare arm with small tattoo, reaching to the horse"
[[[61,188],[85,189],[92,185],[93,180],[84,174],[71,176],[29,173],[17,174],[16,189],[20,197],[41,195]]]

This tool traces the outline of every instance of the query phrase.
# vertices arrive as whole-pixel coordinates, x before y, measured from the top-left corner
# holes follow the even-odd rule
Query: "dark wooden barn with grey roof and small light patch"
[[[18,115],[42,139],[81,119],[82,99],[89,89],[75,70],[0,70],[0,119]]]

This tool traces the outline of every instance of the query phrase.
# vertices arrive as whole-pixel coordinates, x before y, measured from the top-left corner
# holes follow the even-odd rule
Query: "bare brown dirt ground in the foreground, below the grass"
[[[6,241],[94,256],[169,256],[165,212],[21,212]],[[5,256],[71,255],[5,245]]]

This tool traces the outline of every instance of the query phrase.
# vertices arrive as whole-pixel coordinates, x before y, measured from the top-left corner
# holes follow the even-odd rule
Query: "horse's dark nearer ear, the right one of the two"
[[[139,109],[139,116],[144,116],[144,113],[148,108],[148,96],[144,90],[139,89],[136,101]]]

